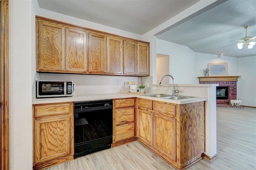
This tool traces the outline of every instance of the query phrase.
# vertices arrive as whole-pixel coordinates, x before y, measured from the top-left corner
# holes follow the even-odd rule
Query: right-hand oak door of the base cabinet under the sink
[[[176,119],[154,113],[154,149],[176,162]]]

